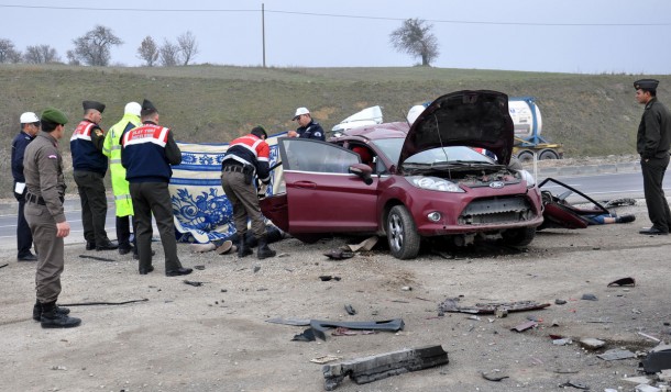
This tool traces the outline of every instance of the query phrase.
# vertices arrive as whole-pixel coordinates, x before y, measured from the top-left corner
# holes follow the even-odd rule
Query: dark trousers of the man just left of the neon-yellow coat
[[[81,224],[84,238],[88,243],[105,244],[109,242],[105,231],[107,217],[107,197],[103,176],[94,171],[76,170],[73,176],[81,201]]]

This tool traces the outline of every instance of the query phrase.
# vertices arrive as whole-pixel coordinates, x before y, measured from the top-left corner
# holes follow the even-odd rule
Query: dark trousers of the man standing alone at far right
[[[640,161],[648,216],[653,227],[666,233],[669,232],[671,225],[671,211],[662,188],[667,166],[669,166],[669,156]]]

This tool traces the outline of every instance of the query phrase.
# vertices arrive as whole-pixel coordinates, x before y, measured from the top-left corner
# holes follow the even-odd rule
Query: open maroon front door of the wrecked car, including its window
[[[359,154],[338,145],[287,137],[278,139],[289,233],[374,232],[377,178],[365,184],[349,172]]]

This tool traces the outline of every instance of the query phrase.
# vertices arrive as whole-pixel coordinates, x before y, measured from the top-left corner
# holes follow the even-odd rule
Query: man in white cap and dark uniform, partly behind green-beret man
[[[19,261],[37,261],[37,257],[31,253],[33,247],[33,235],[25,222],[23,210],[25,208],[25,177],[23,176],[23,154],[25,147],[40,132],[40,119],[33,112],[25,112],[19,119],[21,132],[12,142],[12,177],[14,178],[14,198],[19,201],[19,213],[16,222],[16,259]]]

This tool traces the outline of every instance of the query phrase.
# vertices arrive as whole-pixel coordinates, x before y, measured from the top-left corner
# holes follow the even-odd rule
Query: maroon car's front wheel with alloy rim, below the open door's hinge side
[[[396,205],[387,216],[387,239],[392,255],[402,260],[414,259],[419,254],[421,238],[415,221],[403,205]]]

